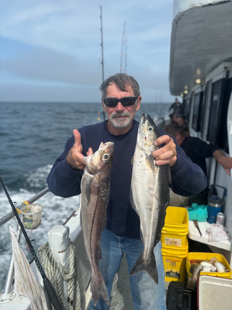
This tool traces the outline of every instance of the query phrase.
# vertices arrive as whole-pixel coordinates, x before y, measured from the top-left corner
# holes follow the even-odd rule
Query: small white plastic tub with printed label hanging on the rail
[[[26,205],[20,209],[25,229],[36,229],[40,226],[42,209],[43,207],[38,203]]]

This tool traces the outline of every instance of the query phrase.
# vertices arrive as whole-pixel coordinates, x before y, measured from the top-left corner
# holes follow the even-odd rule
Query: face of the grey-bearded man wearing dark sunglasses
[[[134,91],[131,87],[129,87],[127,91],[120,91],[115,86],[115,84],[112,83],[107,88],[106,98],[111,97],[120,99],[129,96],[135,96]],[[106,107],[102,100],[103,110],[106,112],[107,117],[110,121],[110,128],[113,128],[114,131],[118,130],[127,132],[131,128],[135,112],[138,111],[140,108],[140,101],[141,96],[138,97],[138,99],[135,101],[135,104],[129,107],[124,107],[119,101],[116,107],[111,108]]]

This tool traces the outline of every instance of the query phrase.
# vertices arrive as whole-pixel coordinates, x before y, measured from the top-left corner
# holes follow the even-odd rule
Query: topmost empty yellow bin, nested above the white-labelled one
[[[182,207],[168,206],[165,216],[165,227],[169,228],[188,228],[188,211]]]

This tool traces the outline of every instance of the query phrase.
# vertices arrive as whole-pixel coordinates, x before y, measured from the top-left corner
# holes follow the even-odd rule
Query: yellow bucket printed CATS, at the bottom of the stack
[[[165,270],[165,281],[184,282],[188,242],[183,247],[162,246],[161,252]]]

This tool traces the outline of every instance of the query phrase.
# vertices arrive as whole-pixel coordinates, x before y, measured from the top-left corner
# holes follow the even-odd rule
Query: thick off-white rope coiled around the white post
[[[48,242],[43,244],[37,256],[43,265],[47,278],[52,283],[57,296],[60,299],[62,308],[67,310],[63,292],[62,281],[68,280],[68,303],[69,310],[81,310],[81,295],[78,276],[78,267],[75,255],[75,245],[69,241],[70,261],[69,268],[65,268],[53,258]],[[54,309],[54,308],[53,308]]]

